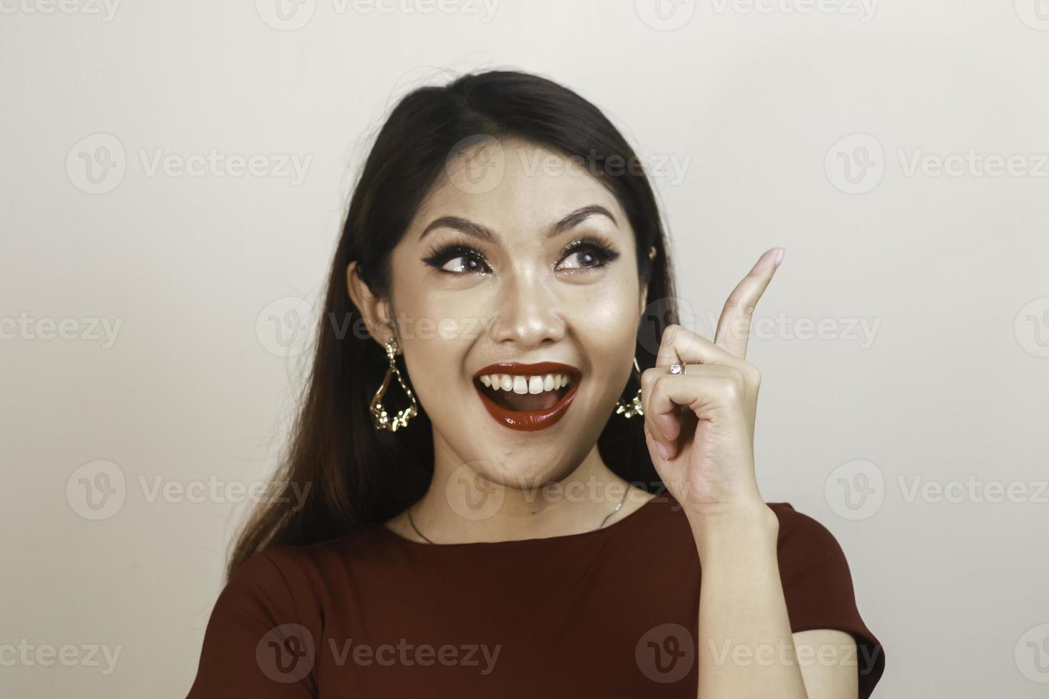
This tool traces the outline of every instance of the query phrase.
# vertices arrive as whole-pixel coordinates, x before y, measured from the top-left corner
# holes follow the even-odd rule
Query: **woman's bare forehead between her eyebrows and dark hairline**
[[[595,167],[542,146],[486,138],[449,159],[409,234],[418,235],[438,216],[461,216],[508,235],[533,232],[588,204],[605,206],[625,232],[626,215],[591,174]],[[614,227],[612,221],[600,220]]]

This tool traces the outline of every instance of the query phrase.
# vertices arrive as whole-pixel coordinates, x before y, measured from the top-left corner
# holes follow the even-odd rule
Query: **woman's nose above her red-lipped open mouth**
[[[494,342],[514,344],[522,350],[564,336],[564,320],[557,294],[541,271],[528,270],[508,279],[499,289],[491,327]]]

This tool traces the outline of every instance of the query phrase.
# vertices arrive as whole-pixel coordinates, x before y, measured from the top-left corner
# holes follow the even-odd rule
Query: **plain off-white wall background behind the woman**
[[[0,0],[0,693],[185,696],[369,136],[509,67],[651,168],[697,331],[786,248],[761,486],[876,695],[1046,696],[1049,3],[661,1]]]

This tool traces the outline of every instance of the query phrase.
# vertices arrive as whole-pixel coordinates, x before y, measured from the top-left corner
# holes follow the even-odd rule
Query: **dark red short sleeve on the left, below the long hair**
[[[234,571],[212,609],[187,699],[317,696],[316,634],[296,609],[286,565],[260,551]]]

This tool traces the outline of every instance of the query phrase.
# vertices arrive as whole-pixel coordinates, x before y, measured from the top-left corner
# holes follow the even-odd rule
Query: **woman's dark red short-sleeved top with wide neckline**
[[[884,653],[841,547],[790,504],[770,506],[791,630],[851,633],[869,697]],[[434,545],[372,524],[238,568],[188,699],[694,699],[699,605],[699,554],[668,494],[548,539]]]

